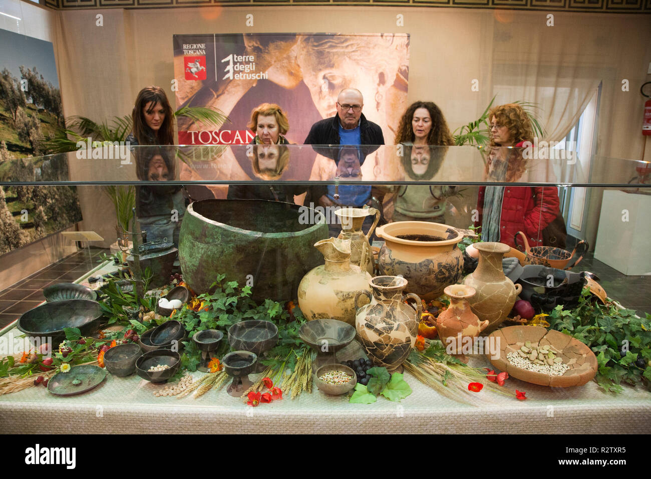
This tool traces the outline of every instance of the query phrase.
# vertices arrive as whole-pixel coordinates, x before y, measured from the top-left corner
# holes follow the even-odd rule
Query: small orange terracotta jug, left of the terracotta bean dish
[[[436,318],[439,338],[451,355],[462,354],[463,338],[477,338],[488,327],[488,321],[480,321],[468,301],[475,296],[475,288],[464,284],[452,284],[445,288],[450,306]]]

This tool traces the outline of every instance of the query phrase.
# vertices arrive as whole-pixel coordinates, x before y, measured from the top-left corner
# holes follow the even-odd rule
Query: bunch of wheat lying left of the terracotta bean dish
[[[486,402],[486,396],[480,398],[477,393],[468,390],[469,383],[481,383],[486,390],[503,396],[516,397],[515,390],[489,381],[486,374],[482,373],[482,370],[471,368],[465,364],[439,362],[419,353],[416,360],[413,362],[407,360],[403,363],[403,366],[421,383],[430,386],[436,392],[454,401],[471,405]]]

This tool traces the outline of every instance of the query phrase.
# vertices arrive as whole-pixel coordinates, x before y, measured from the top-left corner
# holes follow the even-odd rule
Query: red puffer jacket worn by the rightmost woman
[[[486,186],[479,187],[477,210],[479,219],[475,226],[482,224],[484,212],[484,192]],[[499,242],[515,248],[513,237],[518,231],[527,235],[529,246],[543,246],[542,230],[551,223],[559,212],[559,195],[555,186],[505,186],[502,199],[502,214],[499,219]],[[519,244],[521,244],[521,239]]]

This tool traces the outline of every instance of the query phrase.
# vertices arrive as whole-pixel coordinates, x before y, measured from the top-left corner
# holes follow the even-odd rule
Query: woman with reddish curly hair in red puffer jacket
[[[488,181],[526,182],[527,164],[519,148],[533,142],[533,128],[518,104],[493,108],[489,114],[492,147],[486,175]],[[514,235],[523,231],[529,246],[542,246],[542,230],[559,213],[555,186],[481,186],[477,199],[482,241],[498,241],[515,247]],[[521,243],[521,242],[520,242]]]

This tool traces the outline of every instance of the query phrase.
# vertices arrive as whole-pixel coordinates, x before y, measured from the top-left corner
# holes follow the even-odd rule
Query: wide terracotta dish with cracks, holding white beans
[[[597,373],[597,358],[590,348],[572,336],[559,331],[546,330],[537,326],[510,326],[493,331],[488,336],[489,344],[490,341],[499,341],[499,351],[495,354],[499,357],[493,359],[490,353],[486,355],[491,364],[500,371],[506,371],[508,375],[527,383],[554,388],[583,386]],[[508,362],[506,355],[517,352],[521,346],[525,345],[525,341],[531,341],[532,344],[538,343],[540,346],[552,345],[561,351],[561,354],[557,356],[563,358],[563,364],[570,366],[570,369],[565,371],[562,376],[551,376],[514,366]]]

